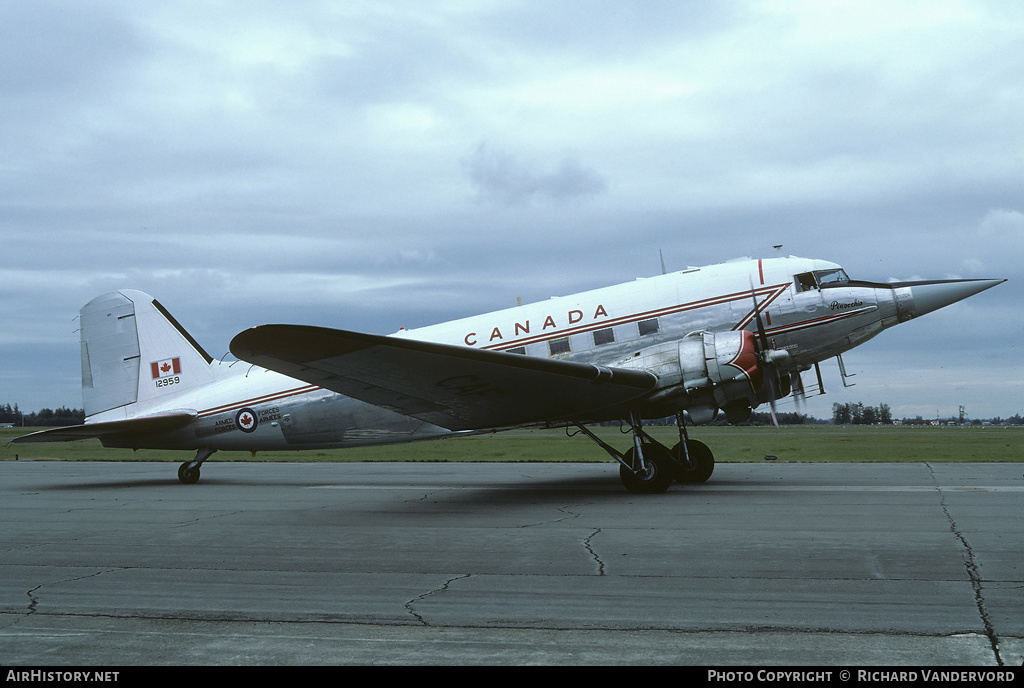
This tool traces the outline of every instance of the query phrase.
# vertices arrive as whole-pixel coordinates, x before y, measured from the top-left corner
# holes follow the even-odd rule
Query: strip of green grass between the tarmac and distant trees
[[[189,451],[110,449],[97,440],[11,444],[10,439],[38,428],[0,429],[0,459],[63,461],[174,461]],[[608,443],[626,450],[630,436],[617,428],[595,428]],[[667,445],[678,439],[675,428],[650,427]],[[697,427],[690,437],[711,446],[718,462],[1024,462],[1024,427],[784,426]],[[597,462],[608,456],[587,437],[564,430],[513,430],[490,435],[391,446],[309,451],[218,451],[211,461],[503,461]]]

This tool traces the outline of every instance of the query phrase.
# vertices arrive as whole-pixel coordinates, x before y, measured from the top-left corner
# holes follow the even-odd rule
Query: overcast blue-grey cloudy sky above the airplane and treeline
[[[81,405],[112,289],[220,355],[781,244],[1010,278],[848,353],[855,387],[825,363],[811,413],[1024,414],[1022,54],[1012,0],[4,0],[0,403]]]

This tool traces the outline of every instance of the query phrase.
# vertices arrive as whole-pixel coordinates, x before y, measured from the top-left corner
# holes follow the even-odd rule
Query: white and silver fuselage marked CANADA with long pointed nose
[[[964,282],[852,282],[839,265],[827,261],[748,259],[402,330],[393,336],[612,369],[640,368],[638,361],[648,359],[669,361],[675,368],[653,370],[659,377],[659,389],[651,398],[658,402],[646,406],[639,403],[637,407],[643,414],[663,415],[687,410],[700,421],[713,417],[716,405],[724,407],[728,402],[748,406],[749,411],[766,397],[763,390],[756,389],[756,371],[750,365],[746,373],[740,370],[739,353],[732,360],[725,356],[720,368],[733,365],[739,371],[736,375],[752,388],[750,393],[726,398],[721,391],[724,386],[713,392],[714,381],[688,379],[685,363],[682,369],[679,363],[686,360],[682,342],[689,342],[687,346],[692,349],[699,333],[716,333],[720,351],[728,333],[756,333],[761,341],[767,341],[775,370],[788,375],[806,371],[886,328],[966,298],[998,281],[970,281],[970,286],[964,286]],[[974,284],[982,282],[985,284]],[[937,295],[937,289],[945,291]],[[924,298],[926,292],[928,298]],[[923,299],[927,305],[918,303]],[[740,349],[745,346],[738,338],[735,341]],[[712,350],[714,344],[709,340],[699,350]],[[651,352],[657,355],[651,357]],[[176,380],[190,374],[181,370],[177,376],[169,376],[170,380],[155,379],[150,390],[152,398],[147,403],[194,410],[194,424],[159,436],[106,437],[104,443],[255,451],[355,446],[460,434],[242,361],[214,362],[210,369],[217,384],[175,392]],[[173,403],[170,399],[161,401],[164,393],[172,392]],[[115,408],[89,420],[121,418],[124,411]],[[550,422],[557,424],[558,420]]]

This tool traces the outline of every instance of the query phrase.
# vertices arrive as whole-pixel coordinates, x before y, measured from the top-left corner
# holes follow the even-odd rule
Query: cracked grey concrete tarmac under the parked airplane
[[[1020,666],[1024,466],[0,463],[0,664]]]

